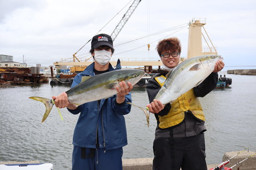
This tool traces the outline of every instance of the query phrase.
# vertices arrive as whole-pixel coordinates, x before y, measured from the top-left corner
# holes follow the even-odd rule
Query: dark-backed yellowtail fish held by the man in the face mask
[[[126,84],[127,82],[130,82],[134,85],[140,81],[144,74],[145,72],[143,70],[124,69],[114,70],[96,76],[83,76],[80,84],[66,91],[68,102],[79,106],[87,102],[109,98],[110,96],[117,94],[115,88],[120,88],[120,82],[124,81]],[[30,99],[44,103],[46,107],[42,119],[42,122],[44,122],[54,106],[53,100],[35,96],[30,97]]]

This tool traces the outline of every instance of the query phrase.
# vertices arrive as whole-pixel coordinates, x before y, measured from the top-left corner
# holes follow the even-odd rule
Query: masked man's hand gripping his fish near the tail
[[[55,106],[59,107],[59,108],[68,107],[69,109],[74,110],[78,107],[75,104],[68,102],[68,95],[65,92],[63,92],[62,94],[60,94],[57,97],[52,96],[52,99],[54,100]]]

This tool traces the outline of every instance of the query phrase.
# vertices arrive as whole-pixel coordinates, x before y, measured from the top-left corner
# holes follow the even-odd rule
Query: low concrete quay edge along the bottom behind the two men
[[[228,158],[233,157],[234,155],[238,154],[234,158],[230,160],[230,163],[226,164],[225,167],[230,168],[231,166],[234,166],[238,162],[244,160],[245,158],[248,158],[248,156],[251,156],[256,151],[244,151],[238,154],[238,151],[236,152],[226,152],[224,156],[222,157],[222,161],[228,160]],[[152,162],[153,158],[137,158],[137,159],[123,159],[123,170],[152,170]],[[26,162],[0,162],[0,164],[35,164],[40,163],[38,160],[32,160],[32,161],[26,161]],[[50,163],[50,162],[45,162]],[[222,163],[222,162],[220,162]],[[215,168],[219,164],[213,164],[213,165],[207,165],[207,169],[210,170],[211,168]],[[53,167],[54,168],[54,167]],[[252,157],[248,158],[244,162],[238,164],[232,170],[256,170],[256,154]]]

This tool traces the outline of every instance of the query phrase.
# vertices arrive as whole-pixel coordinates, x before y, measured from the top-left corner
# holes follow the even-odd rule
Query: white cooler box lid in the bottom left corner
[[[47,164],[5,164],[0,170],[53,170],[53,165]]]

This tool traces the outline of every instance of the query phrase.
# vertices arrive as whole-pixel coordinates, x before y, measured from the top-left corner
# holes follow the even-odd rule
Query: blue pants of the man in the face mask
[[[122,155],[123,148],[105,150],[97,147],[92,150],[74,145],[72,170],[122,170]]]

